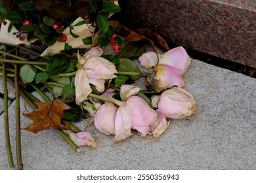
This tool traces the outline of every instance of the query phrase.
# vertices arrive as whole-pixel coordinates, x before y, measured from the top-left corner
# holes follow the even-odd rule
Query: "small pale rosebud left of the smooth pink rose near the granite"
[[[160,54],[156,54],[155,52],[146,52],[139,57],[139,62],[142,67],[150,69],[158,64],[158,60],[160,58]]]

